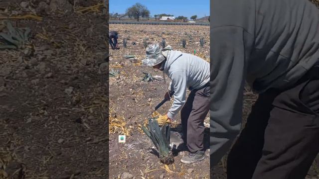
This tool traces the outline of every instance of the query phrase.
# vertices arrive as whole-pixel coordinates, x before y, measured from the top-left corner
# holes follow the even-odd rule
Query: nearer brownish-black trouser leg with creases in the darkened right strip
[[[305,179],[319,152],[319,80],[282,92],[273,105],[252,179]]]

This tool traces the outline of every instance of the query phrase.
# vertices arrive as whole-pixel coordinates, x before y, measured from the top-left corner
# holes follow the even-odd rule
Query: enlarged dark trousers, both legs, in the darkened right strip
[[[305,179],[319,152],[319,67],[259,95],[227,160],[227,179]]]

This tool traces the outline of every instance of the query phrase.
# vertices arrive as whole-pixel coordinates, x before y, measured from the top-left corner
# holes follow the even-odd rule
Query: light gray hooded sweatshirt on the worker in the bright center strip
[[[164,73],[171,79],[168,90],[174,90],[174,101],[167,116],[173,118],[186,101],[186,89],[201,89],[210,80],[209,63],[205,60],[180,51],[169,50]]]

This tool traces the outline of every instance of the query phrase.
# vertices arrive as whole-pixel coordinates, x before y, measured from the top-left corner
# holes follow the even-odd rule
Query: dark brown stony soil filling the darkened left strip
[[[20,2],[1,0],[0,16],[43,20],[11,19],[31,28],[30,54],[0,50],[0,179],[106,179],[106,17],[77,11],[102,0]]]

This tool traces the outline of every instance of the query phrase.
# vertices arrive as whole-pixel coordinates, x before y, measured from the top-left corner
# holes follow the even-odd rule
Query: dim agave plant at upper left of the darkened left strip
[[[0,49],[23,49],[28,42],[30,28],[14,28],[7,22],[8,33],[0,33]]]

